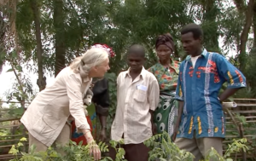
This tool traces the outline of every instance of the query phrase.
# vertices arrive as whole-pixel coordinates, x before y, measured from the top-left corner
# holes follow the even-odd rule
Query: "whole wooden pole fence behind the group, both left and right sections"
[[[247,138],[247,146],[250,147],[248,152],[237,152],[232,158],[239,158],[243,161],[256,160],[256,99],[234,99],[237,103],[236,108],[231,108],[230,113],[225,113],[226,120],[226,138],[224,141],[224,152],[227,149],[227,145],[232,142],[233,139]],[[0,110],[2,112],[8,112],[9,109]],[[230,117],[230,115],[232,117]],[[20,127],[21,135],[17,135],[14,132],[11,135],[0,135],[0,160],[9,160],[14,158],[9,154],[9,149],[12,145],[17,144],[20,138],[28,138],[26,129],[20,124],[11,124],[12,121],[17,121],[20,118],[0,118],[0,133],[2,130],[11,131],[11,129],[17,129]],[[27,144],[22,149],[27,152]]]

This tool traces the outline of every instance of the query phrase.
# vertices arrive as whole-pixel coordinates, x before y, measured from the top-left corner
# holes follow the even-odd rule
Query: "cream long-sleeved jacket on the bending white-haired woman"
[[[51,146],[61,133],[70,114],[79,129],[90,129],[83,109],[83,95],[91,79],[82,82],[79,73],[64,68],[55,82],[38,93],[20,119],[21,123],[38,141]]]

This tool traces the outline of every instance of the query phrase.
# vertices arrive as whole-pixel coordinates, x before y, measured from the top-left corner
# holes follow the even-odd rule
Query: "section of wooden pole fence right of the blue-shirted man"
[[[256,158],[256,99],[234,99],[236,108],[231,108],[230,113],[225,112],[226,135],[224,152],[233,139],[247,138],[247,152],[237,152],[233,158],[243,161]],[[230,117],[230,115],[232,117]]]

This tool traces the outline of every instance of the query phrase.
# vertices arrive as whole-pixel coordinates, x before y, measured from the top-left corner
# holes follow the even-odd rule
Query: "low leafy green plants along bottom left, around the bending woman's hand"
[[[15,155],[15,158],[11,161],[92,161],[93,156],[90,155],[90,145],[83,146],[82,141],[77,145],[75,142],[70,141],[69,145],[61,147],[56,146],[56,149],[49,147],[46,152],[36,152],[35,146],[30,147],[30,152],[22,152],[21,147],[24,146],[23,142],[26,138],[21,138],[17,145],[13,145],[9,150],[10,154]],[[125,155],[125,150],[120,147],[124,144],[124,141],[111,141],[111,145],[117,152],[117,161],[122,160]],[[118,147],[119,145],[119,147]],[[108,152],[108,146],[104,142],[98,144],[101,152]],[[65,155],[63,155],[65,154]],[[19,157],[21,155],[21,157]],[[113,161],[112,158],[103,157],[102,161]]]

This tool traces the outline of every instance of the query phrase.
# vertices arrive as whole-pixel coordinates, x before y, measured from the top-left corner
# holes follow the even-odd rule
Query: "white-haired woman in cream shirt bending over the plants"
[[[20,121],[29,132],[30,147],[35,145],[36,151],[46,151],[53,143],[66,145],[70,139],[67,124],[70,116],[84,133],[86,141],[89,144],[94,142],[84,115],[83,96],[90,87],[91,79],[102,78],[109,70],[108,56],[113,51],[106,46],[93,46],[74,59],[28,106]],[[90,152],[96,160],[101,158],[97,146],[91,146]]]

